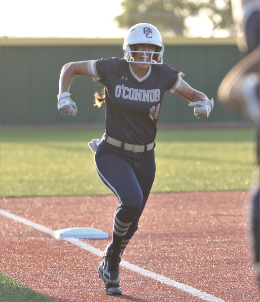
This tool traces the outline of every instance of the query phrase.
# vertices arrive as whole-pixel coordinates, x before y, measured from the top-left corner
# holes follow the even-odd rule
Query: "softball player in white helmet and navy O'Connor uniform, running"
[[[119,285],[121,255],[145,207],[155,177],[155,137],[162,97],[166,90],[181,95],[205,119],[213,99],[189,86],[184,74],[163,63],[162,37],[151,24],[129,29],[124,40],[124,59],[110,58],[72,62],[63,66],[59,81],[58,109],[75,115],[76,104],[69,87],[74,76],[91,76],[104,85],[104,96],[95,94],[98,106],[105,100],[105,133],[89,143],[95,167],[104,184],[118,198],[112,241],[98,267],[106,294],[122,294]]]

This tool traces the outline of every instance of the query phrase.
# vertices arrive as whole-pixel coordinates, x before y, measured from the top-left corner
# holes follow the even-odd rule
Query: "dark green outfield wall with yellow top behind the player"
[[[0,122],[5,124],[103,123],[105,106],[93,106],[95,91],[103,86],[90,77],[77,76],[71,86],[76,117],[59,114],[56,101],[59,74],[72,61],[122,57],[123,39],[14,39],[1,38]],[[165,39],[163,61],[185,74],[193,88],[215,99],[208,121],[239,122],[217,102],[217,88],[241,58],[234,39]],[[159,123],[202,123],[188,102],[165,92]]]

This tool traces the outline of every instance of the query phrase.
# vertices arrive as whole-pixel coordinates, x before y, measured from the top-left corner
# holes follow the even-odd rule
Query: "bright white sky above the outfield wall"
[[[114,16],[122,13],[123,0],[2,0],[0,37],[121,38]],[[219,0],[223,2],[223,0]],[[191,37],[210,37],[206,15],[189,18]],[[217,32],[215,37],[224,37]]]

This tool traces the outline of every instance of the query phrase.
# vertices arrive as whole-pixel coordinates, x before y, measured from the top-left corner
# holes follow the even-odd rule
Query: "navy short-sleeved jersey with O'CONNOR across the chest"
[[[106,87],[107,135],[125,143],[152,143],[163,94],[178,91],[184,74],[168,64],[154,64],[140,79],[131,64],[119,58],[89,61],[88,70]]]

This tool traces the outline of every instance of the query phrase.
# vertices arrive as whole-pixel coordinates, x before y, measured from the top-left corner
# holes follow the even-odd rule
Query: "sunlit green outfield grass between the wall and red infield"
[[[87,143],[102,130],[1,130],[1,197],[111,194]],[[159,130],[152,192],[243,190],[255,131]]]

